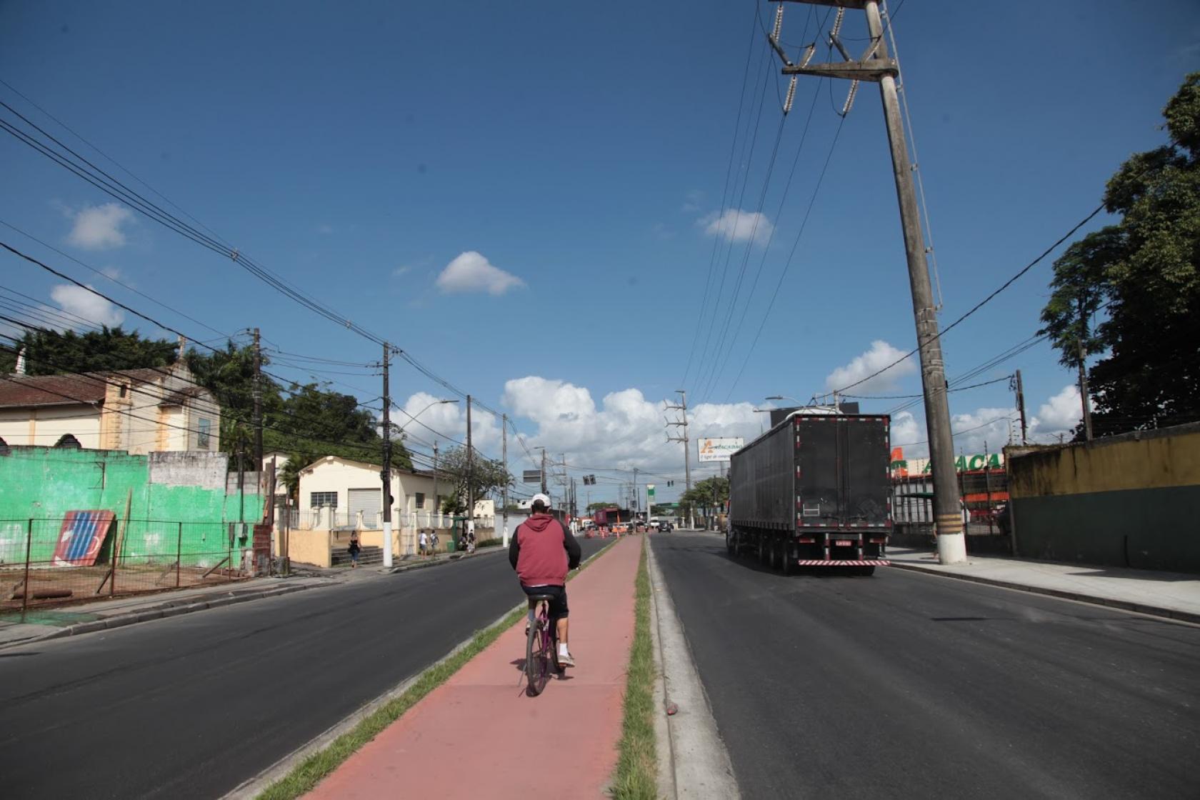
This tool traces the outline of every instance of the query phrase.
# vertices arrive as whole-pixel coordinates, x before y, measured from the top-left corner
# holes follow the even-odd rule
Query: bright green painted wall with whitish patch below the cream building
[[[24,561],[29,519],[34,523],[32,560],[54,554],[67,511],[112,511],[125,516],[133,491],[122,555],[211,566],[229,552],[228,523],[240,515],[262,519],[265,498],[247,481],[245,505],[224,485],[228,461],[218,453],[162,453],[151,481],[151,458],[124,451],[12,447],[0,456],[0,561]],[[163,461],[166,459],[166,462]],[[194,486],[186,485],[196,476]],[[248,542],[247,542],[248,543]],[[241,542],[235,542],[240,549]],[[236,559],[236,554],[235,554]]]

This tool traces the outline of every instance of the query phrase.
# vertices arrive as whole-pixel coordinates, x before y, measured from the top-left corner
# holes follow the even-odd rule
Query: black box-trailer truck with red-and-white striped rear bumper
[[[890,417],[787,415],[730,459],[730,555],[791,575],[887,566],[892,531]]]

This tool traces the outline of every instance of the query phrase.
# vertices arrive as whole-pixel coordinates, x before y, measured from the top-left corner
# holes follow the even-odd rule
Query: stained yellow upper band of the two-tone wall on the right
[[[1200,429],[1188,428],[1014,455],[1008,462],[1009,495],[1015,500],[1200,485]]]

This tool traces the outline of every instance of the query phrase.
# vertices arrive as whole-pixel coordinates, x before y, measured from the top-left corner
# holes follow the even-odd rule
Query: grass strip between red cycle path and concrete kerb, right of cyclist
[[[634,603],[634,645],[625,684],[625,718],[618,744],[616,800],[654,800],[658,796],[658,753],[654,739],[654,648],[650,644],[650,576],[646,567],[646,540],[637,564]]]

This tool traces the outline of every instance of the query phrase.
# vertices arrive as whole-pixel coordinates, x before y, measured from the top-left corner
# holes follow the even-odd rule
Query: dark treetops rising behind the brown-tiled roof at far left
[[[98,331],[28,330],[11,348],[0,350],[0,374],[17,367],[17,353],[25,350],[25,373],[53,375],[62,372],[109,372],[169,367],[179,344],[151,339],[120,326]]]

